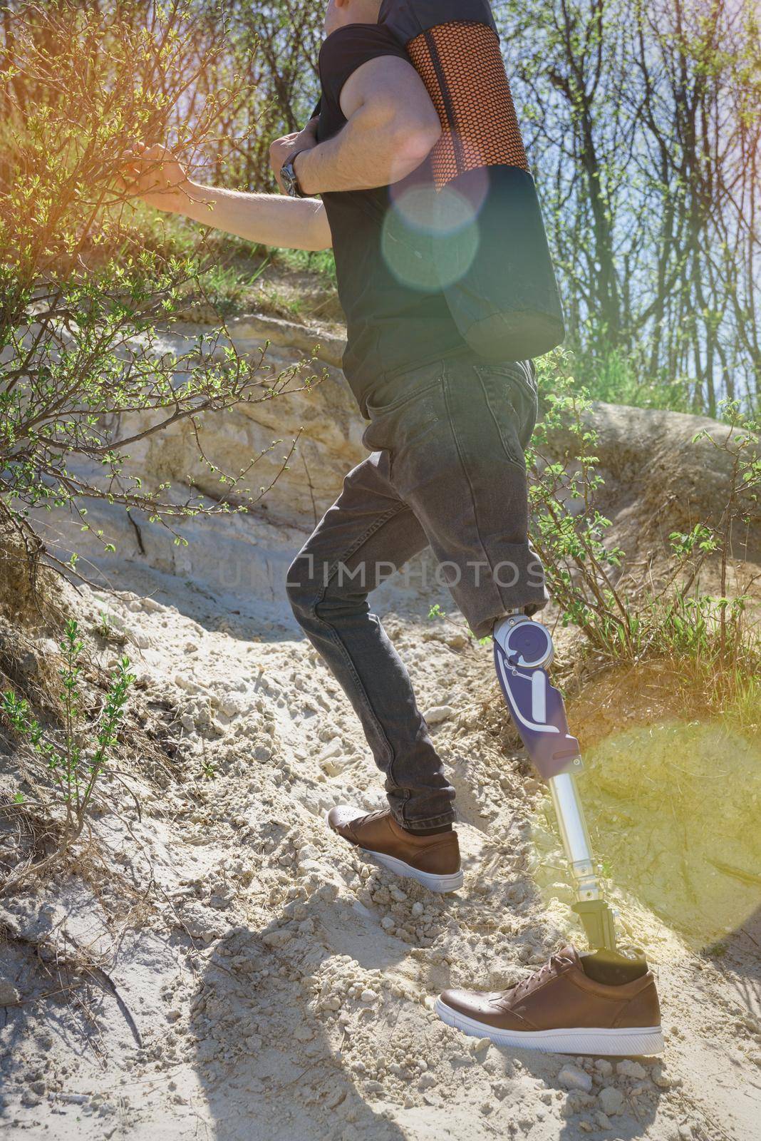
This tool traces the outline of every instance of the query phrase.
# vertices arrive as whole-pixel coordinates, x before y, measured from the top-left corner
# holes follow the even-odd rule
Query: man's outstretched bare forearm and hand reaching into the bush
[[[189,179],[170,151],[137,143],[124,157],[117,184],[148,205],[185,215],[249,242],[296,250],[333,245],[325,207],[317,199],[246,194]]]

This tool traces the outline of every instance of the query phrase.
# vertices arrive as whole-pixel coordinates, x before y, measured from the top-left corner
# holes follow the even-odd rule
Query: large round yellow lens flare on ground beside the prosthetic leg
[[[622,914],[632,919],[644,905],[695,949],[721,946],[754,922],[761,754],[753,739],[721,721],[638,725],[598,741],[584,762],[592,847],[614,896],[623,892]],[[553,817],[548,808],[534,832],[534,874],[550,897],[563,880]]]

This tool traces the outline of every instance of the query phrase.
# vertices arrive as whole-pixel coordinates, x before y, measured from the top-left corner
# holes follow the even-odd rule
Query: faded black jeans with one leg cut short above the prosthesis
[[[368,404],[363,443],[375,451],[288,572],[296,618],[354,706],[394,819],[410,831],[453,820],[455,790],[368,593],[429,544],[478,637],[547,602],[527,539],[524,448],[537,407],[531,362],[458,358],[410,374],[403,397]]]

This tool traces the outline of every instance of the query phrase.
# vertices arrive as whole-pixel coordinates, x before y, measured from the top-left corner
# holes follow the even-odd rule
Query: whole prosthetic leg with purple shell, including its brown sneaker
[[[531,760],[548,782],[591,950],[566,946],[507,990],[444,990],[439,1017],[501,1046],[567,1054],[657,1054],[663,1050],[655,978],[638,947],[616,949],[613,912],[603,898],[576,792],[579,742],[563,698],[547,677],[553,639],[525,614],[494,625],[494,663],[505,701]]]

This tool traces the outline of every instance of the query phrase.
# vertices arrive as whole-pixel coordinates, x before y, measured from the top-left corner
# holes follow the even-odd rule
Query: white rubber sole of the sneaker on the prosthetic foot
[[[490,1038],[497,1046],[513,1046],[518,1050],[539,1050],[553,1054],[611,1054],[628,1057],[637,1054],[660,1054],[663,1051],[663,1034],[660,1026],[635,1026],[622,1029],[596,1029],[580,1027],[579,1029],[558,1030],[498,1030],[493,1026],[484,1026],[467,1014],[452,1010],[441,998],[436,1000],[435,1011],[442,1021],[453,1026],[464,1034],[476,1038]]]

